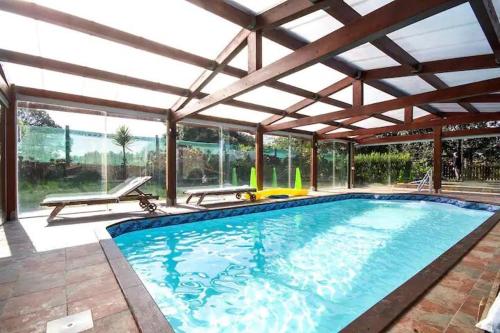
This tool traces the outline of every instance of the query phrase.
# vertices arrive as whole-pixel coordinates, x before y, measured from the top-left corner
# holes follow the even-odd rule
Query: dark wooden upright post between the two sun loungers
[[[170,113],[172,115],[173,113]],[[166,197],[167,206],[177,204],[177,123],[169,117],[167,121],[167,156],[166,156]]]

